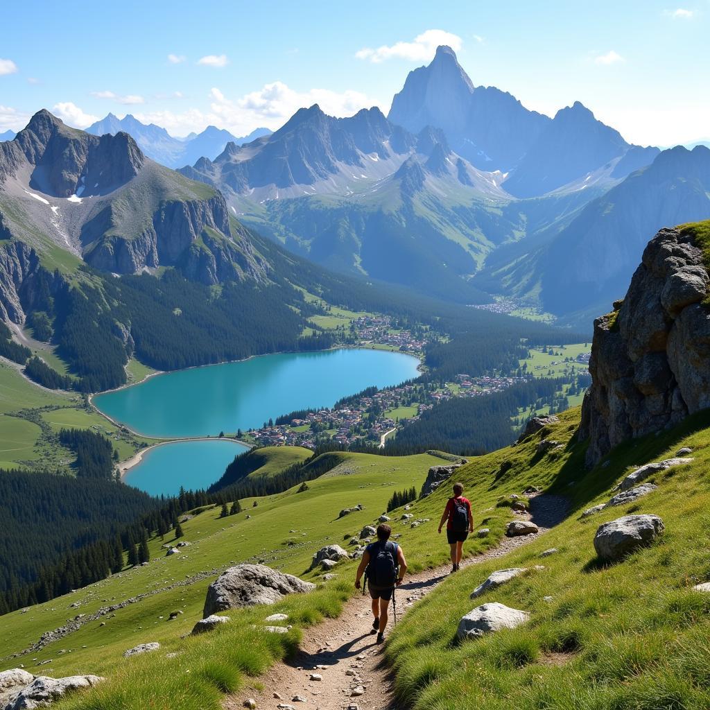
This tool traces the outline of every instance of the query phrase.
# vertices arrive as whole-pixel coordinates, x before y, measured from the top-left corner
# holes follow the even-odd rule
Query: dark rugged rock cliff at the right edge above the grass
[[[705,233],[705,234],[704,234]],[[594,322],[580,437],[593,465],[626,439],[710,406],[710,222],[662,229],[616,310]]]

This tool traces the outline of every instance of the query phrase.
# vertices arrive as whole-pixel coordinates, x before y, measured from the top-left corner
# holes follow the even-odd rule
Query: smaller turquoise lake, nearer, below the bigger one
[[[124,482],[151,496],[176,496],[180,486],[187,491],[207,488],[222,476],[235,456],[248,448],[224,439],[161,444],[143,454],[141,463],[129,469]]]

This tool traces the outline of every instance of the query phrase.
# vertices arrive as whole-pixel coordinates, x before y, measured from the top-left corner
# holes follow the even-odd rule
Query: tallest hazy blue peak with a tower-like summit
[[[388,119],[413,133],[436,126],[477,168],[503,172],[518,164],[550,123],[496,87],[474,87],[454,50],[444,46],[430,65],[409,73]]]

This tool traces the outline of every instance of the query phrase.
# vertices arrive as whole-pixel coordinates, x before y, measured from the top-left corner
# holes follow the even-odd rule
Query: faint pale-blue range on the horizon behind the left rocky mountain
[[[207,126],[202,133],[190,133],[187,138],[173,138],[170,133],[155,124],[143,124],[131,114],[119,119],[114,114],[109,114],[101,121],[97,121],[87,128],[87,133],[94,136],[103,136],[110,133],[115,136],[119,131],[124,131],[133,136],[141,151],[148,158],[155,160],[168,168],[181,168],[183,165],[192,165],[199,158],[216,158],[224,151],[227,143],[236,145],[248,143],[260,136],[268,135],[268,129],[256,129],[244,138],[236,138],[229,131]]]

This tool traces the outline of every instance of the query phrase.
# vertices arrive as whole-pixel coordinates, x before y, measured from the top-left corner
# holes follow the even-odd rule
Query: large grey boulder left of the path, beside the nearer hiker
[[[315,584],[264,564],[238,564],[226,569],[207,587],[202,616],[255,604],[275,604],[287,594],[313,589]]]

